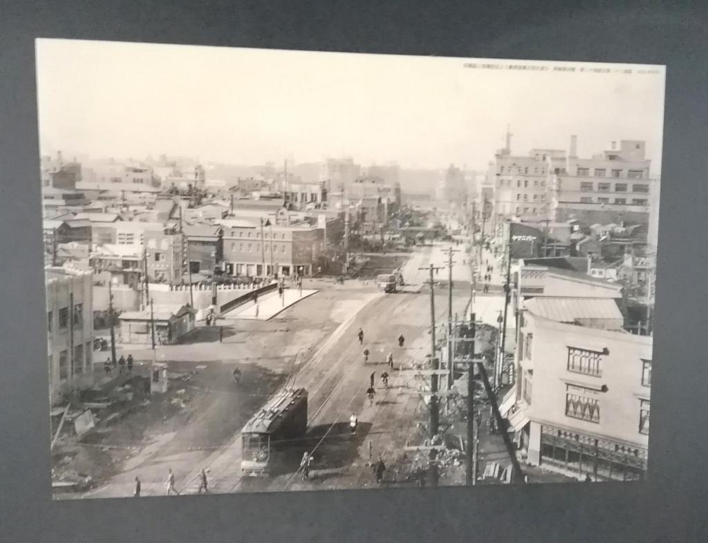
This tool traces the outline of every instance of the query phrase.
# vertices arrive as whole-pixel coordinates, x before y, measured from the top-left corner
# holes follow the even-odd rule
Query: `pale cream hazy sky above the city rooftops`
[[[38,40],[40,146],[94,158],[352,156],[362,165],[484,168],[508,123],[515,154],[568,148],[571,134],[579,156],[643,139],[658,171],[663,67],[627,66],[628,75],[465,62],[479,60]]]

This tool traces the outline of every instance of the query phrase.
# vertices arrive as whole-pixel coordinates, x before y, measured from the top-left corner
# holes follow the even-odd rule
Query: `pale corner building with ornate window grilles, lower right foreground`
[[[503,412],[527,461],[581,479],[646,473],[651,338],[607,298],[532,298],[520,315]]]

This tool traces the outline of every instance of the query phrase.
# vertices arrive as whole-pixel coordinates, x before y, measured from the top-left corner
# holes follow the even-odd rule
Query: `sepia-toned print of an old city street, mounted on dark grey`
[[[53,498],[646,479],[664,66],[36,62]]]

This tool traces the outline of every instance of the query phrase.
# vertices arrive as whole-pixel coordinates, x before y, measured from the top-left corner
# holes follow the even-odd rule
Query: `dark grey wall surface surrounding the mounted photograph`
[[[0,541],[708,541],[705,22],[668,2],[0,0]],[[650,481],[52,503],[35,37],[666,64]]]

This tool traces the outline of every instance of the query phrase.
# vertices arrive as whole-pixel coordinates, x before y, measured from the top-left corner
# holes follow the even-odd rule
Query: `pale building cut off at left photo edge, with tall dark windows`
[[[62,403],[93,375],[93,274],[45,269],[50,399]]]

